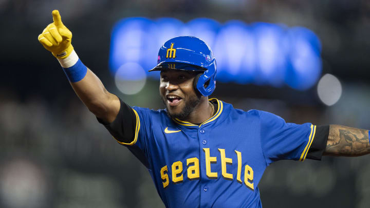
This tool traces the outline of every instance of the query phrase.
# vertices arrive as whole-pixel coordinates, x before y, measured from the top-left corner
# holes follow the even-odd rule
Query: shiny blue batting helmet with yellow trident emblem
[[[193,36],[179,36],[168,40],[158,52],[158,65],[149,71],[165,69],[204,71],[194,81],[203,96],[210,96],[216,88],[216,59],[206,42]]]

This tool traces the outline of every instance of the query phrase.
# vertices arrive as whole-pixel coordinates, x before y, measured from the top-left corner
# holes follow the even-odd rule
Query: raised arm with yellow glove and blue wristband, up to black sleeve
[[[58,59],[78,97],[104,123],[115,120],[120,101],[109,93],[99,78],[82,64],[71,45],[72,33],[64,26],[58,10],[52,11],[53,23],[39,35],[40,43]]]

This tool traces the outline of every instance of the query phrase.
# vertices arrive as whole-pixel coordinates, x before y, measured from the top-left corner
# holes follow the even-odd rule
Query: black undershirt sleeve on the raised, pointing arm
[[[121,107],[116,119],[112,123],[104,123],[97,118],[99,123],[103,124],[109,133],[119,142],[131,143],[135,138],[136,116],[134,110],[124,103],[121,99]]]

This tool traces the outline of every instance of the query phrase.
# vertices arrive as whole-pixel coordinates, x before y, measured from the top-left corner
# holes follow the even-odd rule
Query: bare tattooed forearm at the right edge
[[[369,153],[368,130],[330,125],[324,155],[356,157]]]

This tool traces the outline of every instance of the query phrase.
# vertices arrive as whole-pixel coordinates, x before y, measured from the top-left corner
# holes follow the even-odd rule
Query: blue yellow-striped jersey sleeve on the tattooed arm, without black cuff
[[[316,126],[311,123],[286,123],[284,119],[265,111],[258,111],[261,122],[261,145],[266,163],[278,160],[306,159],[315,139]]]

